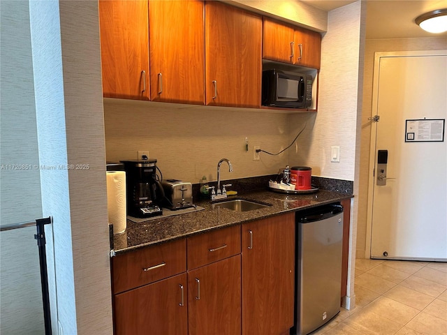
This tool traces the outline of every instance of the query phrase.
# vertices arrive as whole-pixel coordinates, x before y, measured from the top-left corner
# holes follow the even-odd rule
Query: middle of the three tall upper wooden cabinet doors
[[[149,1],[152,101],[205,104],[203,1]]]

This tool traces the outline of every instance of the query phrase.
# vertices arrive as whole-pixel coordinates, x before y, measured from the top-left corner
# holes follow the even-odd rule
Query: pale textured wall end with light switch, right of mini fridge
[[[321,161],[326,163],[327,168],[322,172],[323,177],[354,181],[349,228],[349,277],[347,297],[344,301],[344,306],[348,309],[356,305],[354,282],[360,160],[358,120],[362,99],[362,84],[359,80],[364,66],[365,20],[364,1],[331,10],[328,15],[328,33],[325,34],[321,45],[321,81],[324,84],[323,94],[320,96],[322,103],[318,107],[318,110],[323,108],[324,114],[319,131],[321,136],[312,142],[312,147],[318,148]],[[328,162],[330,156],[325,151],[332,145],[340,146],[340,163]]]

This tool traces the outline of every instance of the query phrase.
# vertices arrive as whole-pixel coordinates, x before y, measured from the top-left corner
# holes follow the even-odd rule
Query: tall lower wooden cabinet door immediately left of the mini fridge
[[[294,287],[295,214],[242,225],[242,334],[293,327]]]

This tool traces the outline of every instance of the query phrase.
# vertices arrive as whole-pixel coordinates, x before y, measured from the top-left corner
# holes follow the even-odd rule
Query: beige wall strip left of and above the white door
[[[367,205],[368,205],[368,174],[369,174],[369,147],[371,144],[372,117],[372,83],[374,68],[374,52],[386,51],[416,51],[416,50],[445,50],[447,38],[402,38],[386,40],[367,40],[365,48],[365,71],[363,81],[363,105],[361,125],[361,155],[360,155],[360,191],[358,194],[358,235],[357,255],[365,258],[367,237]]]

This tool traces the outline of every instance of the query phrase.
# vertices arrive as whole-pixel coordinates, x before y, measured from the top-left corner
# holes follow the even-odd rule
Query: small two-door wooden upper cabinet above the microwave
[[[321,34],[264,17],[263,58],[319,69]]]

